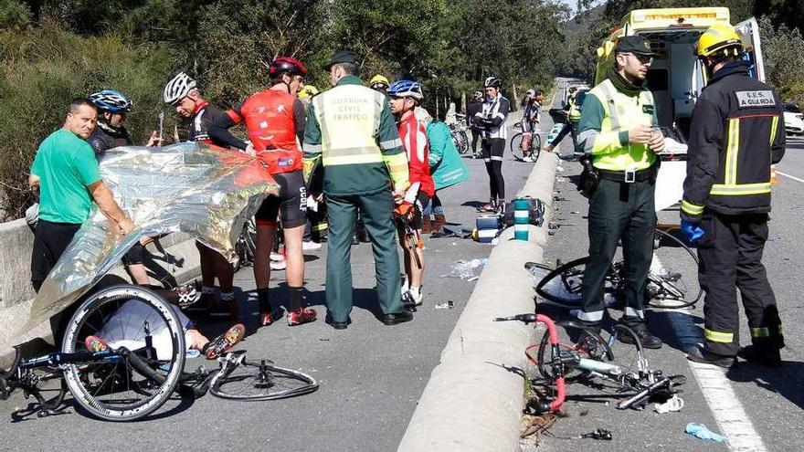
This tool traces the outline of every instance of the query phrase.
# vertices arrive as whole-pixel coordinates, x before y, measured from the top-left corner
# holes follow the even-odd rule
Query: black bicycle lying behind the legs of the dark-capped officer
[[[657,226],[654,229],[653,261],[648,272],[645,298],[648,305],[654,308],[681,309],[693,306],[704,294],[697,279],[698,258],[682,240],[663,228],[672,227]],[[541,278],[536,284],[536,293],[540,297],[565,307],[577,308],[581,303],[584,270],[588,262],[587,256],[566,264],[558,261],[555,268],[535,262],[528,262],[525,268],[536,278]],[[685,274],[693,276],[685,277]],[[605,280],[604,300],[607,304],[624,300],[625,264],[621,258],[615,258],[611,263]]]

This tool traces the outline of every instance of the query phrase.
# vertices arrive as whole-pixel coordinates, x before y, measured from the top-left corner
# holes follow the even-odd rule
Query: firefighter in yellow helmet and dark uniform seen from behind
[[[704,298],[704,348],[688,359],[730,367],[735,355],[778,366],[784,347],[762,251],[770,212],[770,165],[785,153],[777,92],[748,77],[740,37],[728,25],[709,28],[698,58],[711,74],[695,103],[690,129],[682,230],[698,244]],[[739,348],[740,289],[751,342]]]

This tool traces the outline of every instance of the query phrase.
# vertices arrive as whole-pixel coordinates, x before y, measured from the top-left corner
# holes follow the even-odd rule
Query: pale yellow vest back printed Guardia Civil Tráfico
[[[360,85],[339,85],[312,99],[324,166],[383,162],[375,136],[385,100]]]

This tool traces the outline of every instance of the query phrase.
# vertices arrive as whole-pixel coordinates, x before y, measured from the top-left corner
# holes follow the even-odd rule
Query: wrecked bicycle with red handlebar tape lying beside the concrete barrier
[[[614,326],[607,341],[597,331],[575,321],[554,322],[544,314],[519,314],[494,321],[540,322],[547,327],[541,341],[528,345],[525,355],[555,390],[554,394],[532,399],[526,408],[528,414],[560,411],[566,400],[566,384],[575,381],[597,379],[613,384],[611,389],[615,396],[622,395],[615,405],[620,410],[642,408],[653,399],[666,400],[679,392],[676,389],[679,385],[686,383],[684,375],[664,375],[659,370],[651,370],[639,337],[625,325]],[[557,327],[562,327],[568,335],[562,336]],[[623,336],[631,344],[627,347],[629,352],[616,356],[613,346],[623,342]],[[573,341],[573,338],[577,339]]]

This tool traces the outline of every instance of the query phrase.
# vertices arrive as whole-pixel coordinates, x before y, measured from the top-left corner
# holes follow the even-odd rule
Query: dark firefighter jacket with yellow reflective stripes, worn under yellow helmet
[[[742,63],[718,70],[695,102],[682,218],[770,212],[770,165],[785,153],[778,94]]]

